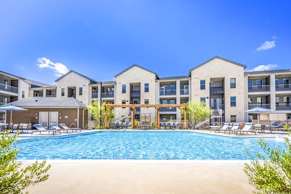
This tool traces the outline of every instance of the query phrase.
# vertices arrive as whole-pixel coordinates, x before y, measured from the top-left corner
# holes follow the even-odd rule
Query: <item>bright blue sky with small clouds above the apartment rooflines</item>
[[[249,70],[291,68],[291,1],[1,0],[0,70],[54,84],[132,64],[160,77],[218,55]],[[261,66],[259,66],[261,65]]]

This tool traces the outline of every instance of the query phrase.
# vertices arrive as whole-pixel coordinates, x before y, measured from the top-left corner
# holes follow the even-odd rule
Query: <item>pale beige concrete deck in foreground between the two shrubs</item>
[[[24,163],[23,165],[27,165]],[[252,194],[239,163],[52,163],[30,194]]]

